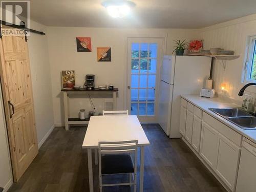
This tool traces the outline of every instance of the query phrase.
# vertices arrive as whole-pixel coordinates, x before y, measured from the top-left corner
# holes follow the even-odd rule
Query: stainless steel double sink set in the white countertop
[[[256,130],[256,117],[240,108],[209,108],[210,111],[244,130]]]

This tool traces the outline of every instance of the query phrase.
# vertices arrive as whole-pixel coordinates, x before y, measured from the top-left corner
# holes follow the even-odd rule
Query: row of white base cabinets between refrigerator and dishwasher
[[[235,191],[242,136],[184,99],[181,102],[180,133],[194,148],[194,153],[199,153],[201,161],[209,165],[215,177],[221,179],[230,191]]]

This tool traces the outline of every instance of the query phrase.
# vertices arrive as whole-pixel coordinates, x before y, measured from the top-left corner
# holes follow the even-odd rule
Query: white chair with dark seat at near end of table
[[[138,141],[99,142],[99,191],[104,186],[137,186]],[[133,160],[131,156],[134,156]],[[102,184],[102,175],[129,174],[129,182]],[[132,177],[134,176],[134,178]]]

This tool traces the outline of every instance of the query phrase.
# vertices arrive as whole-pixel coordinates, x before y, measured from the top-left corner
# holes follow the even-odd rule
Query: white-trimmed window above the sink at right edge
[[[249,38],[245,65],[245,82],[256,82],[256,36]]]

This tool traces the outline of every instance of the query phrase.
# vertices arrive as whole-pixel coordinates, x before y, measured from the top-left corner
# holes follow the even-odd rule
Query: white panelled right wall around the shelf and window
[[[246,59],[246,37],[256,35],[256,14],[201,29],[200,35],[204,39],[204,49],[221,47],[234,50],[235,54],[240,55],[236,60],[227,61],[226,71],[220,63],[215,62],[213,78],[217,92],[232,99],[241,100],[242,97],[238,96],[238,92],[245,85],[241,83],[241,79]],[[220,89],[222,82],[226,83],[226,92]],[[256,93],[255,87],[247,90]]]

